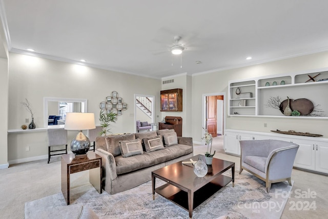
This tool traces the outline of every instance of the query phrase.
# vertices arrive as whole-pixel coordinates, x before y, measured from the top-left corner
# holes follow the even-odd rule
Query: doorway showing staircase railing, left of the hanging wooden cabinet
[[[154,102],[155,96],[134,94],[134,132],[137,132],[136,122],[148,122],[148,124],[154,123]]]

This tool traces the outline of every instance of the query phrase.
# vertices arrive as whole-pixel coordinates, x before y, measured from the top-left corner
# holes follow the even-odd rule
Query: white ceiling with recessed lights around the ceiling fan
[[[12,52],[155,78],[328,50],[325,0],[0,1]]]

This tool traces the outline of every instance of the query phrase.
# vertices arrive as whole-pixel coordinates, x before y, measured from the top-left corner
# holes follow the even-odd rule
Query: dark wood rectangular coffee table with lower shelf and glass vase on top
[[[203,155],[196,155],[191,158],[193,161],[198,161],[198,156]],[[208,168],[209,171],[203,178],[196,176],[191,164],[185,165],[182,162],[152,171],[153,200],[155,200],[156,192],[189,211],[189,217],[192,218],[193,210],[222,187],[230,182],[234,187],[235,163],[213,158],[213,163],[208,165]],[[232,177],[222,175],[230,168]],[[167,184],[155,188],[156,178],[167,182]]]

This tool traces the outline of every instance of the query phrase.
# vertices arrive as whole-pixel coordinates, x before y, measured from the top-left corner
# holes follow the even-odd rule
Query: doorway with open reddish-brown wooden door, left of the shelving
[[[203,94],[202,124],[213,137],[223,135],[225,129],[225,96],[224,92]]]

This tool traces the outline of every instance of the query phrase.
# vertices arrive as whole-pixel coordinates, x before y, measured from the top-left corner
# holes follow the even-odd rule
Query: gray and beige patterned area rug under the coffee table
[[[227,172],[225,175],[230,175]],[[156,179],[156,187],[164,182]],[[215,193],[193,211],[193,218],[280,218],[292,186],[275,183],[270,193],[265,183],[243,171],[235,173],[232,183]],[[151,181],[114,195],[99,194],[91,184],[71,190],[71,205],[67,206],[61,193],[25,203],[25,219],[72,218],[81,205],[88,206],[99,218],[188,218],[187,210],[155,194],[152,200]],[[75,217],[74,217],[75,218]]]

